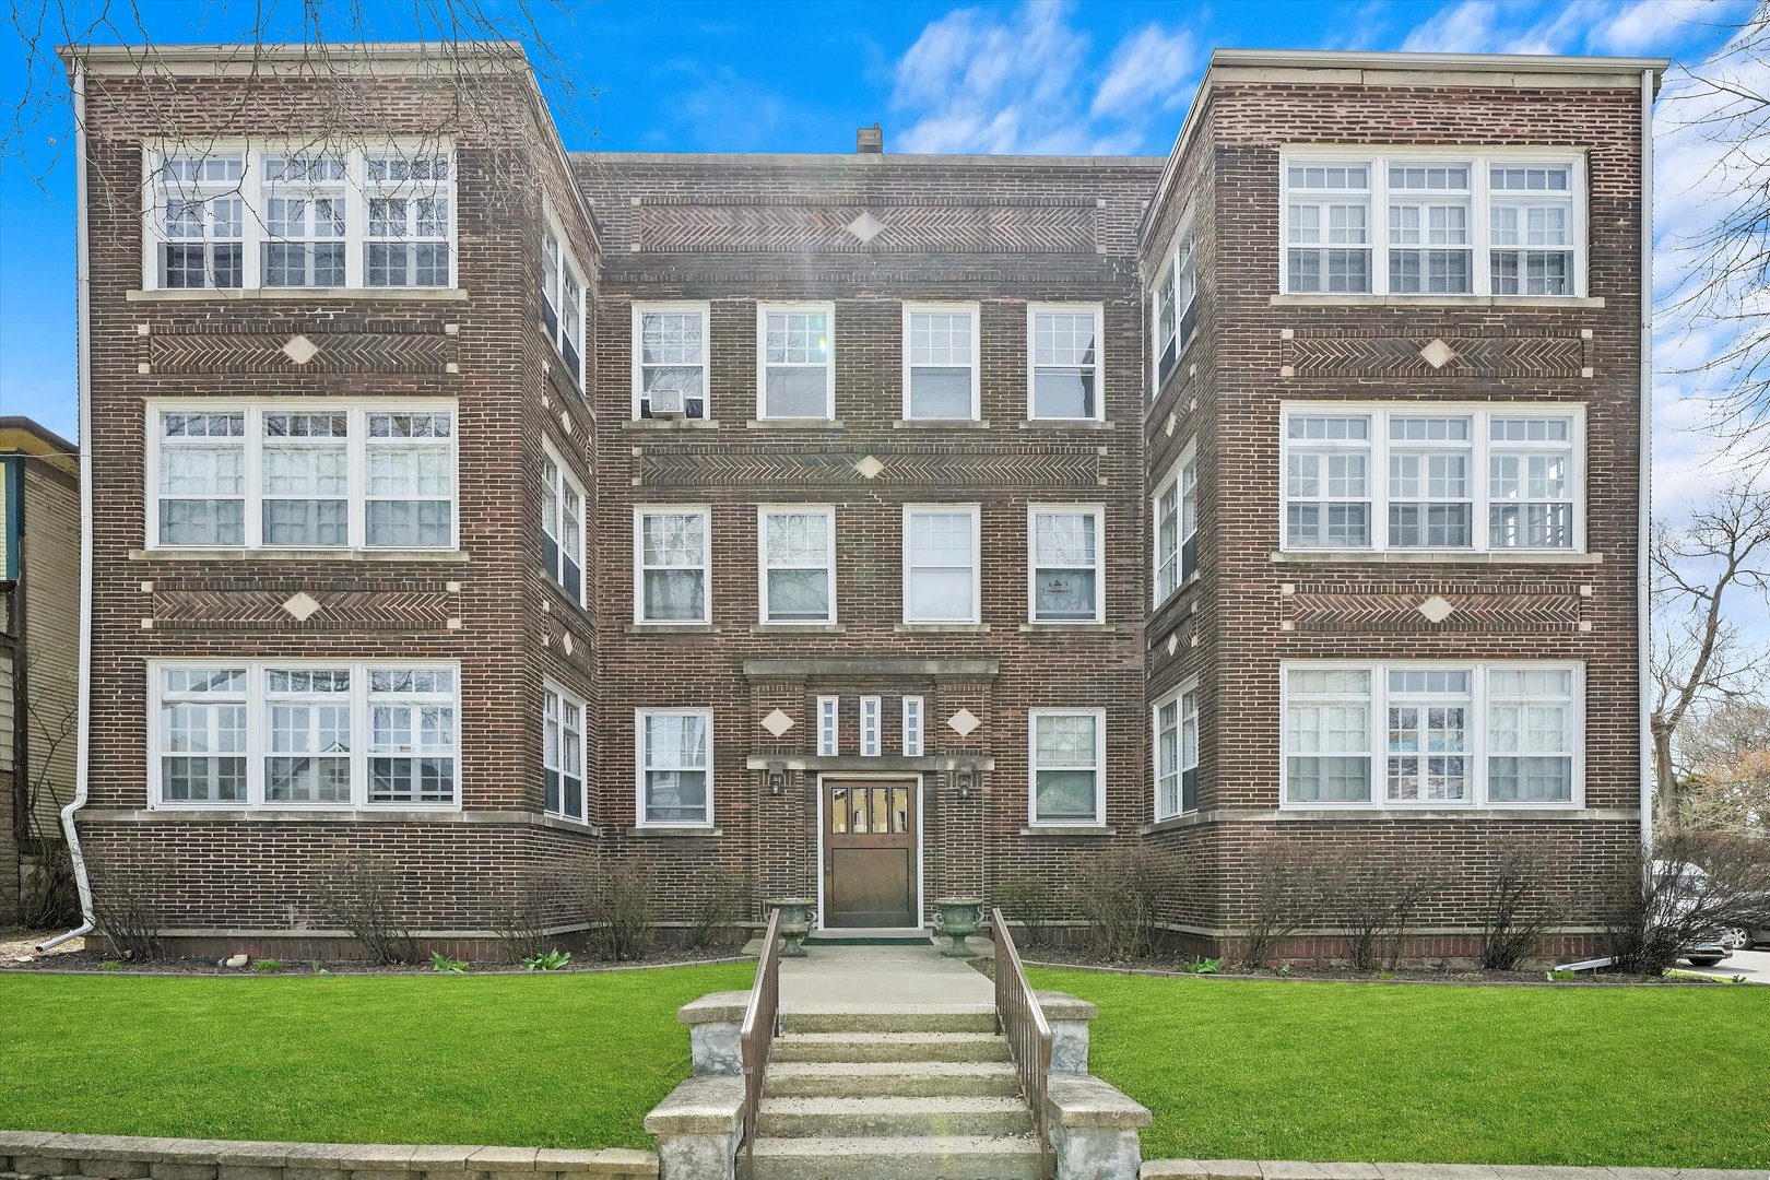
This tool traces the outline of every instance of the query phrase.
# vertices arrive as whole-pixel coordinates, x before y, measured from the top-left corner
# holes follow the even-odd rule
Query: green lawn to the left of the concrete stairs
[[[0,975],[0,1127],[651,1148],[676,1008],[750,964],[575,975]]]

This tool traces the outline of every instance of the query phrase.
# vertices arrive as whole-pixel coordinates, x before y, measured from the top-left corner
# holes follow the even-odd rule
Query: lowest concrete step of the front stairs
[[[758,1139],[747,1180],[1039,1180],[1032,1136]]]

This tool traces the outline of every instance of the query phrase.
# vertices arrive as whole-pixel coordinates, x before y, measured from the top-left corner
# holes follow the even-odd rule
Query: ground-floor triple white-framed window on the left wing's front
[[[455,808],[460,672],[405,660],[154,660],[149,805]]]

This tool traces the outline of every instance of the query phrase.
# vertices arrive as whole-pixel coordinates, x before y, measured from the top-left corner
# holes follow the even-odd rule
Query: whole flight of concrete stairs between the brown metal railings
[[[1039,1180],[1032,1111],[986,1005],[796,1005],[745,1180]]]

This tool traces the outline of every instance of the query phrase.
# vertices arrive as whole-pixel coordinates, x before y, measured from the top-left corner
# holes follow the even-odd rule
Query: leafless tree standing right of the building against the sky
[[[1770,591],[1770,490],[1726,488],[1682,527],[1657,529],[1651,561],[1655,814],[1674,823],[1678,727],[1749,699],[1770,674],[1770,651],[1752,646],[1729,616],[1740,600]]]

